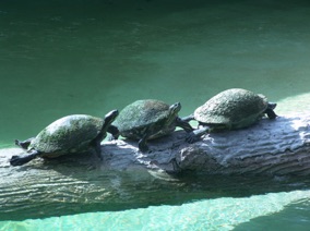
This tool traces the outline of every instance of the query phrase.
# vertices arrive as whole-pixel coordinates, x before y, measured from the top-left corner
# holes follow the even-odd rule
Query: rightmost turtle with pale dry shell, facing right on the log
[[[198,129],[189,134],[187,141],[194,143],[207,132],[248,127],[264,114],[275,119],[275,107],[276,104],[269,102],[262,94],[242,88],[226,89],[196,108],[193,114],[182,118],[187,122],[199,122]]]

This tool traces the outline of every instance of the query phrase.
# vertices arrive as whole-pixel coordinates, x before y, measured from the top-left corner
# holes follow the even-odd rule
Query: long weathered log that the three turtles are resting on
[[[257,177],[265,181],[266,175],[309,175],[309,121],[310,114],[263,119],[245,130],[207,134],[194,144],[186,143],[187,134],[177,131],[150,142],[152,151],[147,154],[139,151],[136,142],[104,142],[102,160],[95,155],[79,155],[38,158],[11,167],[12,155],[23,150],[0,149],[0,220],[167,204],[167,197],[174,197],[174,187],[179,189],[181,203],[188,198],[191,187],[187,186],[191,184],[179,175],[190,173],[199,173],[208,182],[213,181],[208,175],[216,174],[217,181],[222,181],[220,175],[237,175],[236,181],[223,181],[222,185],[213,181],[212,185],[225,185],[226,191],[229,184],[234,189],[238,185],[239,192],[251,185],[245,191],[259,193],[266,187],[261,183],[255,187]],[[238,183],[243,175],[251,175],[250,184]],[[190,181],[196,181],[196,177]]]

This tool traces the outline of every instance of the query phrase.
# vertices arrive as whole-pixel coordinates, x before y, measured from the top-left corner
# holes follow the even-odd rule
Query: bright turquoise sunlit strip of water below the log
[[[0,222],[1,230],[233,230],[250,219],[310,199],[310,191],[271,193],[249,198],[218,198],[181,206],[116,212],[90,212],[43,220]]]

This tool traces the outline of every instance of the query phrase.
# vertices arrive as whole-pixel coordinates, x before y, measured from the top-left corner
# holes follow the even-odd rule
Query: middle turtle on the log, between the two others
[[[186,132],[192,132],[192,126],[178,117],[181,104],[171,106],[157,99],[141,99],[124,107],[119,117],[112,123],[118,127],[118,134],[111,139],[117,139],[119,135],[129,139],[139,141],[139,149],[142,153],[148,151],[146,142],[168,135],[182,127]]]

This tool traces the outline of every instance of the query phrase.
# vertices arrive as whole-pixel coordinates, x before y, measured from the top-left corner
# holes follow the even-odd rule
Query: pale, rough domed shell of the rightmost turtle
[[[241,129],[259,120],[267,108],[263,95],[247,89],[224,90],[194,111],[194,119],[208,125],[223,124],[230,129]]]

